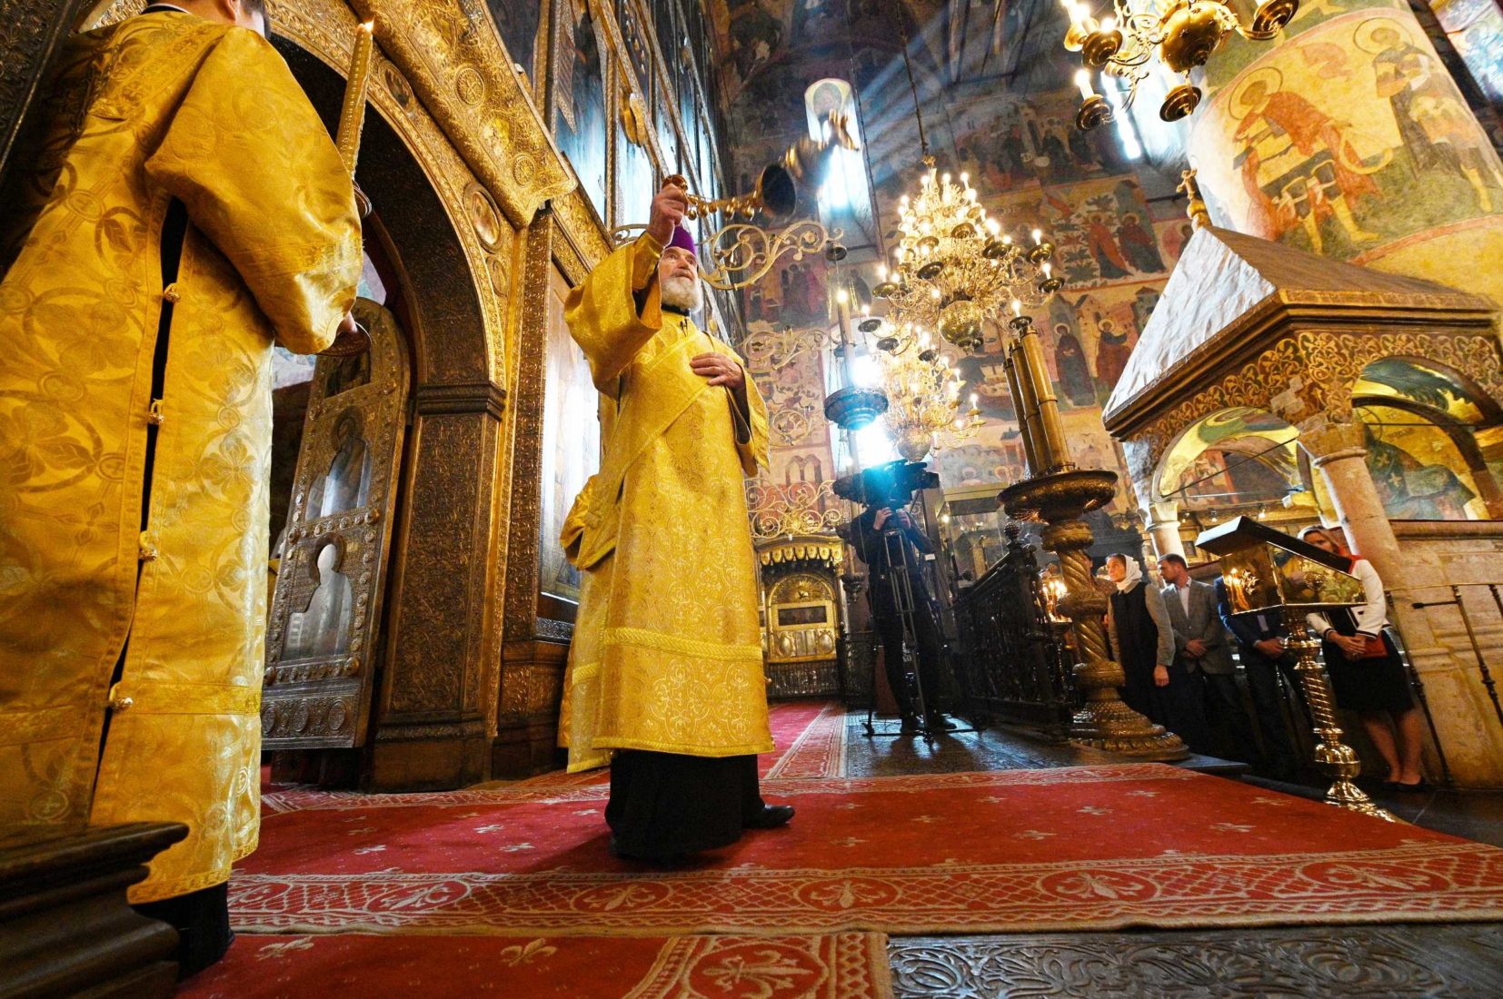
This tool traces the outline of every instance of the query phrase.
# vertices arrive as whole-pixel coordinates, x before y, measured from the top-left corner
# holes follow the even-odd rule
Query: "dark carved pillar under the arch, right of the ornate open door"
[[[488,382],[416,391],[370,790],[463,787],[488,775],[482,678],[497,655],[504,398]]]

